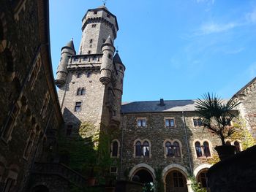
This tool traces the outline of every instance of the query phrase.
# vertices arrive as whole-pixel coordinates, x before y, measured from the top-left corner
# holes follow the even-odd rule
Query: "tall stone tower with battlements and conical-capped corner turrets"
[[[125,66],[115,54],[116,16],[101,6],[89,9],[82,22],[79,54],[72,41],[62,47],[55,81],[67,134],[84,121],[100,129],[118,128],[121,120]]]

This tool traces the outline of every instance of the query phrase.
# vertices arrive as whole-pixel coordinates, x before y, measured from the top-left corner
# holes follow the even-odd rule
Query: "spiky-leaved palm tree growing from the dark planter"
[[[232,136],[235,130],[230,126],[233,118],[237,115],[232,112],[240,102],[229,100],[227,103],[219,96],[205,93],[203,99],[197,99],[195,103],[196,112],[200,115],[202,125],[221,139],[225,145],[225,139]]]

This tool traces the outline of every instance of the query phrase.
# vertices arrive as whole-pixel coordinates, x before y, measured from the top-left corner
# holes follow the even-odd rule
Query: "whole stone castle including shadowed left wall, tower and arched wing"
[[[189,175],[194,175],[206,187],[220,142],[200,128],[195,101],[121,104],[125,66],[114,46],[117,18],[101,6],[89,9],[82,22],[78,54],[72,40],[62,47],[54,81],[48,1],[1,1],[0,191],[83,187],[84,178],[59,164],[56,154],[57,132],[69,139],[83,122],[94,126],[91,134],[109,135],[114,160],[109,172],[118,180],[139,176],[154,185],[162,180],[165,191],[191,191]],[[254,79],[233,96],[241,101],[235,112],[252,133],[255,84]],[[240,141],[230,142],[243,150]]]

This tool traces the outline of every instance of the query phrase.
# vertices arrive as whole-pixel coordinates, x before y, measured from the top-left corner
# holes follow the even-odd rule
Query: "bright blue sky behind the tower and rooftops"
[[[61,47],[100,0],[50,1],[54,76]],[[115,45],[127,67],[123,101],[230,98],[256,76],[256,1],[108,0],[118,19]]]

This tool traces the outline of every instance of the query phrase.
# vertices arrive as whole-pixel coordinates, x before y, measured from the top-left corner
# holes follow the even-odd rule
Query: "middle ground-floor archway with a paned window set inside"
[[[165,177],[166,192],[187,192],[187,180],[178,170],[170,171]]]

